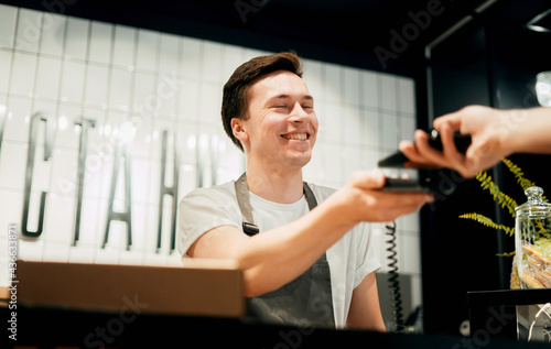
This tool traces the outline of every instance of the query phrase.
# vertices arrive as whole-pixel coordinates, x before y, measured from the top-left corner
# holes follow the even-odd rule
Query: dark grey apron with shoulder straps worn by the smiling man
[[[241,210],[244,232],[259,232],[252,220],[247,178],[244,173],[235,183],[237,203]],[[309,208],[317,201],[306,183],[303,184]],[[325,252],[302,275],[282,287],[261,296],[247,298],[247,318],[268,324],[335,328],[331,293],[329,264]]]

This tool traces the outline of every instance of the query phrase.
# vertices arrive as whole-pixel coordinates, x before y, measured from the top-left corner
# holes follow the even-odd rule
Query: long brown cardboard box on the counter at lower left
[[[242,273],[235,261],[142,266],[20,260],[17,265],[17,302],[25,306],[122,312],[133,305],[150,314],[245,314]],[[9,297],[6,288],[0,296]]]

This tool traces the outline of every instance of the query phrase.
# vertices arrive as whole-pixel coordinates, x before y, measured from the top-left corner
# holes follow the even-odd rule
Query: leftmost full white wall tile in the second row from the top
[[[35,72],[35,55],[14,53],[10,80],[10,94],[28,97],[32,96]]]

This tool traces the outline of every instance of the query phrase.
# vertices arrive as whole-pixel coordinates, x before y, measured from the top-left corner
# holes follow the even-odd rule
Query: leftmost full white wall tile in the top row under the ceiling
[[[39,52],[42,28],[42,12],[20,9],[18,30],[15,33],[15,50],[25,52]]]

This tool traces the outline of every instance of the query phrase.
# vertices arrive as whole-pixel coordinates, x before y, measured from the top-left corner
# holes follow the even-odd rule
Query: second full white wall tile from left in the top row
[[[65,44],[67,18],[44,12],[42,17],[42,37],[40,53],[61,57]]]

